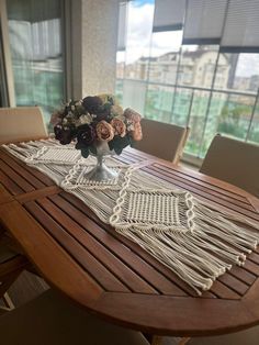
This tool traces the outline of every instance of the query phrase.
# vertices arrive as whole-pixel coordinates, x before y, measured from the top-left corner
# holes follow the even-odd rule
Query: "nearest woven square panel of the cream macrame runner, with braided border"
[[[137,227],[162,231],[193,231],[192,196],[172,191],[125,191],[117,199],[112,225],[120,229]]]

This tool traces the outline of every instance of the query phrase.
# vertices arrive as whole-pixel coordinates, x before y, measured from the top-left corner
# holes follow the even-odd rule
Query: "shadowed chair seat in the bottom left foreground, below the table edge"
[[[8,345],[148,345],[142,333],[110,324],[50,289],[1,315],[0,334]]]

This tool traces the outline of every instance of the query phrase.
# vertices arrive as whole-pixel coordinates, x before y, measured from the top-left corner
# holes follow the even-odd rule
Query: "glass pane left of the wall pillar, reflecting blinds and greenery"
[[[40,105],[46,122],[64,101],[60,0],[7,1],[16,105]]]

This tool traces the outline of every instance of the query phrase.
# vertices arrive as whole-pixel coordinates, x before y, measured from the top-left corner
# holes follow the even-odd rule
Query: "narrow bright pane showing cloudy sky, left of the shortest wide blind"
[[[125,77],[147,79],[155,0],[128,2]]]

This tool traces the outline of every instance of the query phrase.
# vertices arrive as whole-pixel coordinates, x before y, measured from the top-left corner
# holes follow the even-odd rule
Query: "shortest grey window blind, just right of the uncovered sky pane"
[[[156,0],[154,32],[181,30],[185,11],[185,0]]]

